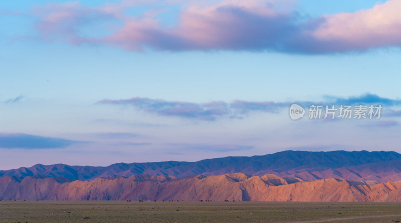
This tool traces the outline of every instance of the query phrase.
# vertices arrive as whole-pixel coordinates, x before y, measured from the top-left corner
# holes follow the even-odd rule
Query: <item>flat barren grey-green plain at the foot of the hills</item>
[[[398,222],[400,220],[401,203],[397,202],[0,201],[0,222]]]

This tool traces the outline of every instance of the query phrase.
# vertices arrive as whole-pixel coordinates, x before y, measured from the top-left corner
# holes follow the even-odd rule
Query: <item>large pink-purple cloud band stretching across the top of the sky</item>
[[[47,40],[107,44],[134,51],[149,47],[171,51],[330,53],[401,45],[399,0],[306,21],[301,21],[291,6],[277,9],[274,6],[277,2],[280,1],[181,2],[178,23],[170,26],[161,25],[161,20],[157,18],[163,11],[160,9],[139,16],[127,15],[127,8],[146,4],[134,0],[106,3],[99,7],[87,7],[79,2],[50,3],[33,11],[38,17],[36,27]],[[114,19],[120,25],[114,26],[114,30],[106,36],[81,34],[87,26],[101,19]]]

